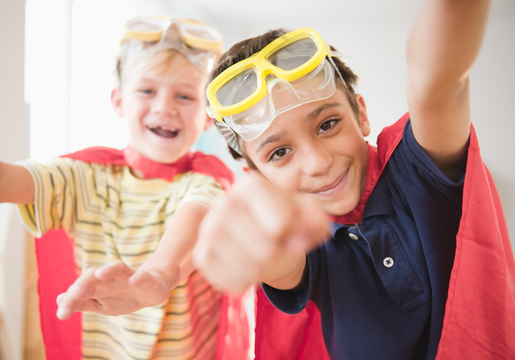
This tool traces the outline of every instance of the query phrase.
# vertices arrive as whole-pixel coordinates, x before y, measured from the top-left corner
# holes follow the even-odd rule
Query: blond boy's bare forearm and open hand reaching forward
[[[57,298],[57,317],[68,319],[74,311],[128,314],[166,301],[170,290],[193,270],[191,253],[208,211],[202,203],[177,209],[156,251],[136,271],[122,261],[85,271]]]

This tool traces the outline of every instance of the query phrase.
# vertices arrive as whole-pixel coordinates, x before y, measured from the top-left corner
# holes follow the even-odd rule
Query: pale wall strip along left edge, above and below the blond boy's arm
[[[29,109],[23,100],[23,1],[0,1],[0,160],[29,156]],[[11,204],[0,204],[0,358],[21,360],[26,233]],[[9,300],[7,303],[6,301]]]

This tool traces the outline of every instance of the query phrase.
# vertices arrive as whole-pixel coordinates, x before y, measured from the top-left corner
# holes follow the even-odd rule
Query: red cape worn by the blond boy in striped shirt
[[[160,164],[142,157],[131,148],[117,150],[92,147],[65,155],[88,163],[128,165],[139,170],[145,179],[162,178],[172,181],[176,175],[198,172],[213,177],[224,189],[234,183],[233,173],[216,157],[200,152],[189,153],[173,164]],[[81,359],[81,313],[60,321],[56,317],[56,298],[77,278],[73,245],[63,230],[52,230],[36,239],[39,271],[38,293],[41,330],[46,358],[51,360]],[[230,316],[228,314],[230,313]],[[220,309],[216,360],[247,359],[248,323],[239,298],[224,295]]]

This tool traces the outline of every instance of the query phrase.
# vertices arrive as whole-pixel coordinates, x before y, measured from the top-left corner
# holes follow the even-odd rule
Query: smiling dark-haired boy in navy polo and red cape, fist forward
[[[357,77],[313,32],[222,55],[211,114],[251,171],[204,219],[193,261],[231,292],[261,283],[257,359],[515,359],[515,259],[471,126],[489,7],[424,1],[409,112],[377,146]]]

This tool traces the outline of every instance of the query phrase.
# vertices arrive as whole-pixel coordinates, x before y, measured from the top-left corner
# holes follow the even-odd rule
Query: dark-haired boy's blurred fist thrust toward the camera
[[[320,245],[327,222],[312,199],[252,176],[203,221],[195,266],[231,292],[255,282],[289,290],[302,284],[306,252]]]

